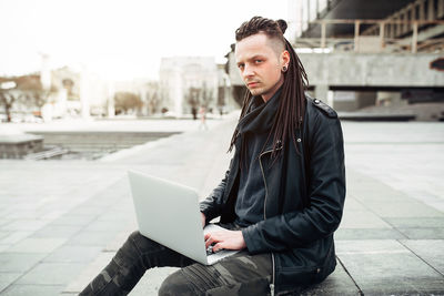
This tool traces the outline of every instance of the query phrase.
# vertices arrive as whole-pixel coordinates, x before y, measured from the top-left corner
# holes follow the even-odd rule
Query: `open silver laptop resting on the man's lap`
[[[222,227],[209,224],[202,229],[195,190],[134,171],[128,175],[142,235],[205,265],[239,252],[223,249],[208,255],[204,233]]]

